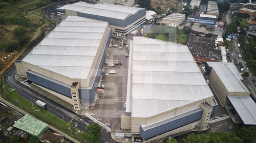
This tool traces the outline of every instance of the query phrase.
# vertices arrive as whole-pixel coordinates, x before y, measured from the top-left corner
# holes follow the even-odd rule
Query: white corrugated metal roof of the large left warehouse
[[[23,59],[70,78],[87,79],[108,22],[69,16]]]

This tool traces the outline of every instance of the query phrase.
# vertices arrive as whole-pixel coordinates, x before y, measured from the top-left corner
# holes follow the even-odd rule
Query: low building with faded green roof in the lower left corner
[[[46,132],[49,127],[46,123],[41,122],[29,115],[25,115],[20,118],[13,127],[23,130],[28,134],[40,138],[44,132]]]

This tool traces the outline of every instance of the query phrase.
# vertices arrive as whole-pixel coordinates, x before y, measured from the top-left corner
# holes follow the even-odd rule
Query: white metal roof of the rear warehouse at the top
[[[116,19],[126,19],[127,17],[143,10],[142,8],[126,7],[113,4],[89,4],[84,2],[65,5],[58,9],[67,9],[81,13],[111,17]]]

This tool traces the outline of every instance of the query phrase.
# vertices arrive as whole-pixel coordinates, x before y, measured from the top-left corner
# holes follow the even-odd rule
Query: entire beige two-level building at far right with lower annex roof
[[[244,125],[256,125],[256,103],[243,83],[233,63],[207,62],[205,71],[220,101],[233,110],[234,120]]]

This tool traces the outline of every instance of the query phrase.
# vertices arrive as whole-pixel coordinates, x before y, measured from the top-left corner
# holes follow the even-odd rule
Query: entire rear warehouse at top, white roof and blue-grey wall
[[[112,4],[78,2],[57,8],[56,11],[65,12],[66,16],[81,16],[108,21],[112,27],[112,33],[122,37],[145,22],[146,18],[146,9]]]

